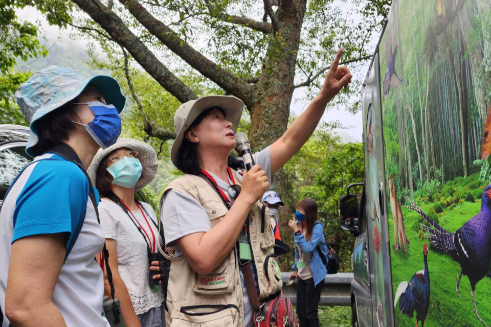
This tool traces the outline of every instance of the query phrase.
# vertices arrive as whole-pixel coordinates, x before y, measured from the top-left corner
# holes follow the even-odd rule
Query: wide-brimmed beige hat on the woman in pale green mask
[[[142,177],[140,177],[135,185],[135,192],[138,192],[148,185],[155,177],[157,168],[159,167],[159,160],[157,159],[157,153],[155,153],[155,150],[153,150],[150,145],[137,141],[136,139],[120,138],[116,144],[111,145],[107,149],[99,149],[92,160],[91,166],[87,169],[88,176],[91,178],[92,184],[96,186],[97,168],[101,164],[102,159],[114,150],[121,148],[127,148],[131,151],[138,152],[138,159],[143,167]]]

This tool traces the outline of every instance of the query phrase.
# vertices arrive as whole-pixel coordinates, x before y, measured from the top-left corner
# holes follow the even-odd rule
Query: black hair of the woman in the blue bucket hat
[[[80,120],[75,105],[66,103],[53,110],[35,122],[39,141],[32,147],[31,152],[38,156],[49,148],[68,140],[68,134],[76,129],[72,121]]]

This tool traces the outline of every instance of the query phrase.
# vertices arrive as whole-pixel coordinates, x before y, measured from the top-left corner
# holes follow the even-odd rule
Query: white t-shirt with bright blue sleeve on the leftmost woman
[[[3,327],[5,290],[10,264],[11,243],[24,237],[65,233],[66,247],[81,218],[80,234],[61,266],[53,292],[53,303],[70,327],[109,327],[103,316],[104,277],[94,260],[102,251],[104,234],[88,197],[88,181],[79,167],[57,155],[29,166],[17,179],[0,212],[0,308]],[[98,194],[96,192],[96,197]],[[83,213],[85,212],[85,217]],[[46,262],[49,265],[50,262]],[[36,287],[36,272],[26,283]],[[25,294],[30,296],[30,294]]]

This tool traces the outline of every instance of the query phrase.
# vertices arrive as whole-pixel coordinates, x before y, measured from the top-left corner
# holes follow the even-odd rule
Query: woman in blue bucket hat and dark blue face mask
[[[125,97],[108,76],[49,66],[21,84],[34,161],[15,178],[0,211],[0,324],[109,326],[99,195],[85,171],[116,143]],[[2,322],[3,320],[3,322]]]

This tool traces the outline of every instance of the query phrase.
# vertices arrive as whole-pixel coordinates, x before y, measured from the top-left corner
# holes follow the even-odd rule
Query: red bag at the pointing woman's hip
[[[261,303],[260,309],[254,313],[254,326],[298,327],[292,301],[283,296],[282,290]]]

